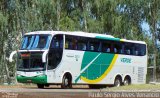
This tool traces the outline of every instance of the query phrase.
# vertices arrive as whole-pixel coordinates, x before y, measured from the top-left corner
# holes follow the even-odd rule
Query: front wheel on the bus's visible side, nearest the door
[[[72,79],[70,75],[64,75],[61,88],[72,88]]]

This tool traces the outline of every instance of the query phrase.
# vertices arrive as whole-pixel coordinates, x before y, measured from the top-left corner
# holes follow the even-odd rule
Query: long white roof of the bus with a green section
[[[97,38],[97,39],[106,39],[106,40],[114,40],[114,41],[121,41],[121,42],[132,42],[132,43],[146,44],[144,41],[120,39],[120,38],[115,38],[112,35],[88,33],[88,32],[82,32],[82,31],[33,31],[33,32],[26,33],[25,35],[33,35],[33,34],[51,34],[51,35],[66,34],[66,35],[91,37],[91,38]]]

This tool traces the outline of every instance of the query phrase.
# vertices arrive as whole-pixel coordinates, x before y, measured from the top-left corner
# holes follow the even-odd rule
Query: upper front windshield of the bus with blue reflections
[[[21,50],[47,49],[50,39],[50,35],[25,35],[22,40]]]

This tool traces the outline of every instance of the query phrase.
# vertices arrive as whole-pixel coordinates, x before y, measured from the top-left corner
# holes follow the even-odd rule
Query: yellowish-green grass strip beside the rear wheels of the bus
[[[137,84],[121,87],[109,87],[107,91],[160,91],[160,84]]]

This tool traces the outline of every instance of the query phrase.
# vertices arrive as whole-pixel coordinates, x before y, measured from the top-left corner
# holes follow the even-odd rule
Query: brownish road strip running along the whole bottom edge
[[[38,89],[37,87],[0,88],[0,98],[75,98],[75,97],[76,98],[120,98],[120,97],[160,98],[160,92],[155,93],[155,91],[150,92],[149,90],[138,91],[138,93],[136,93],[136,91],[125,91],[125,90],[112,92],[108,91],[107,89],[88,89],[88,88],[73,88],[73,89],[61,89],[61,88]]]

